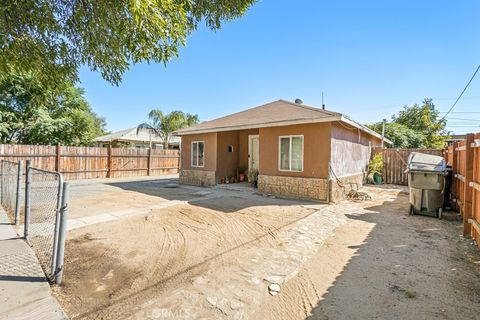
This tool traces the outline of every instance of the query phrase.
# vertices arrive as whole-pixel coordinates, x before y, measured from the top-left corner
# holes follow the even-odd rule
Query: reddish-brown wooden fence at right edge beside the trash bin
[[[480,246],[480,133],[467,134],[445,150],[452,166],[452,200],[463,218],[463,234]]]

